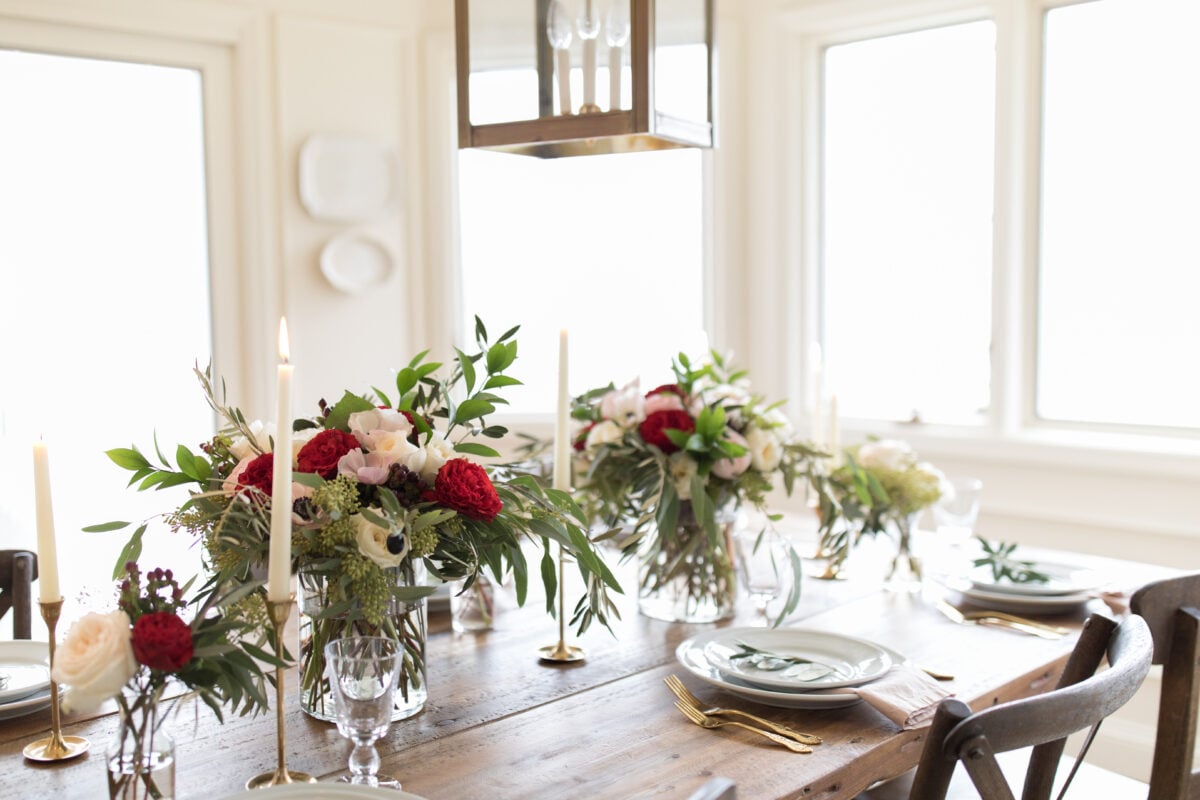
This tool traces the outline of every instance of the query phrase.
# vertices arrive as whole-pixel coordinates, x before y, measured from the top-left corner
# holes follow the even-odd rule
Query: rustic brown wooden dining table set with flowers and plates
[[[1126,590],[1171,573],[1145,564],[1057,557],[1106,570]],[[799,606],[784,625],[890,648],[920,668],[953,675],[946,688],[977,709],[1054,686],[1074,631],[1087,613],[1108,609],[1097,600],[1045,618],[1073,630],[1045,639],[950,621],[935,607],[947,590],[931,581],[919,595],[884,591],[878,560],[864,557],[850,567],[845,581],[806,577]],[[733,780],[744,800],[834,800],[853,798],[916,765],[924,730],[902,730],[866,703],[773,708],[698,680],[676,661],[676,648],[714,626],[640,615],[632,566],[619,567],[618,576],[628,594],[612,633],[596,627],[577,638],[568,630],[568,643],[587,655],[576,663],[539,660],[539,649],[559,637],[533,591],[523,608],[504,610],[494,628],[482,633],[455,633],[445,613],[431,612],[428,703],[416,716],[394,723],[378,742],[382,771],[428,800],[685,799],[714,776]],[[719,625],[761,625],[745,606]],[[823,744],[811,753],[793,753],[743,730],[701,728],[674,708],[664,684],[671,674],[706,702],[752,711],[821,736]],[[288,766],[320,781],[337,780],[346,774],[349,744],[335,726],[301,712],[294,670],[287,679]],[[176,798],[182,800],[235,794],[247,778],[276,766],[274,714],[220,724],[208,709],[190,704],[168,724],[176,741]],[[49,726],[47,710],[0,721],[0,798],[106,796],[103,752],[116,729],[113,709],[64,716],[64,733],[91,742],[83,757],[55,764],[24,759],[22,748]]]

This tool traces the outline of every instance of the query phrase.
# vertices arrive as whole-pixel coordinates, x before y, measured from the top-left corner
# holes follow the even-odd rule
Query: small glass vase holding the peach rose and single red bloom
[[[175,741],[161,728],[163,686],[126,692],[116,735],[104,748],[109,800],[173,800]]]

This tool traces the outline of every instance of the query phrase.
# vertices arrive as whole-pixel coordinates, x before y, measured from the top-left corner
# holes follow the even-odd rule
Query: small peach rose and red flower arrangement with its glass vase
[[[88,711],[115,699],[120,708],[107,751],[109,798],[174,796],[174,742],[160,712],[173,684],[218,718],[222,705],[242,714],[266,706],[256,660],[274,658],[253,644],[256,631],[224,613],[238,594],[187,601],[170,570],[142,575],[131,561],[119,609],[84,615],[56,649],[54,680],[71,687],[64,705]]]

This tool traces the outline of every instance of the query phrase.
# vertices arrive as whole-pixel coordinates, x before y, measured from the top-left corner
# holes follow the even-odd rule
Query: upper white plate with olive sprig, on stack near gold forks
[[[743,645],[805,663],[764,669],[761,664],[769,660],[738,657],[745,651]],[[787,692],[858,686],[882,678],[892,668],[892,656],[874,642],[796,628],[725,628],[704,645],[704,656],[726,676]]]

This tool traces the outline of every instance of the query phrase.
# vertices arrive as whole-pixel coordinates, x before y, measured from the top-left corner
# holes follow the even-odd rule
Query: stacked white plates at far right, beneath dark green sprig
[[[978,567],[966,578],[949,581],[947,585],[976,606],[1015,614],[1063,614],[1086,603],[1105,583],[1099,572],[1070,564],[1038,561],[1033,569],[1049,581],[996,581],[990,569]]]

